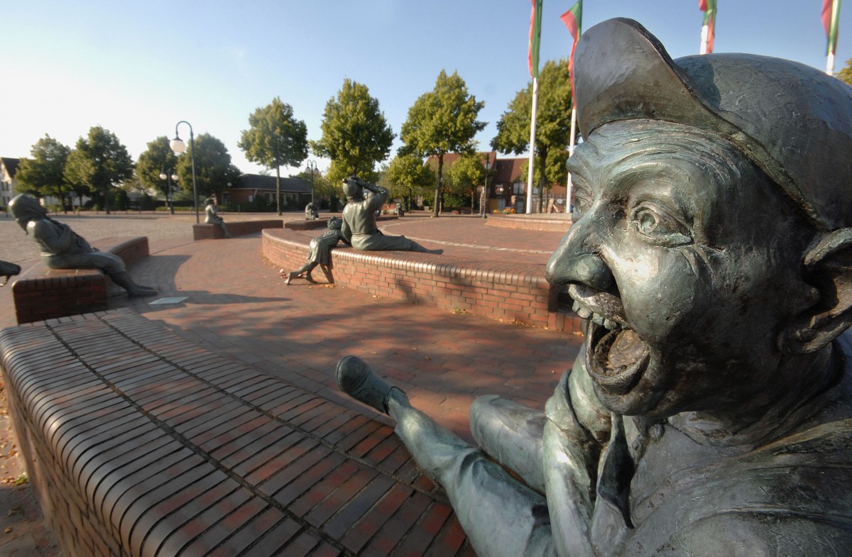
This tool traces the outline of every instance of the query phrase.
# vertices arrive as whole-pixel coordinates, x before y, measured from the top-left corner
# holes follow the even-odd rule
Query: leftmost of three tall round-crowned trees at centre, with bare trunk
[[[282,166],[299,166],[308,158],[308,127],[293,116],[293,107],[275,97],[249,116],[237,143],[245,158],[275,169],[275,207],[281,214]]]

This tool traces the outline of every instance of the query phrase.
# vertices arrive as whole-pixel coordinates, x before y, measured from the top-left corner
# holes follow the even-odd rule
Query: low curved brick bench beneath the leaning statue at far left
[[[130,267],[148,256],[148,238],[107,238],[95,242]],[[107,309],[110,281],[98,269],[51,269],[38,262],[12,284],[18,323],[32,323]]]

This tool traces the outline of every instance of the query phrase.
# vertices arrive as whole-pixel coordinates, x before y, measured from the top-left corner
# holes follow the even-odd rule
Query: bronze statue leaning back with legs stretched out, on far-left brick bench
[[[157,290],[136,284],[121,257],[95,250],[63,222],[48,216],[36,198],[20,194],[9,201],[9,211],[41,248],[42,261],[51,269],[101,269],[128,296],[155,296]]]

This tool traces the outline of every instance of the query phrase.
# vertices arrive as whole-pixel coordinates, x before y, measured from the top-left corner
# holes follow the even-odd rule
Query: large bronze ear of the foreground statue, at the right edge
[[[810,353],[832,342],[852,324],[852,228],[826,235],[804,258],[815,303],[782,333],[787,353]]]

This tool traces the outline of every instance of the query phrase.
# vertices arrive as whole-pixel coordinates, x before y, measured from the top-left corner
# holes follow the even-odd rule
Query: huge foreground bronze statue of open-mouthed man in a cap
[[[620,19],[575,67],[576,209],[546,277],[585,342],[544,411],[476,399],[477,447],[360,359],[338,383],[396,420],[480,557],[849,554],[852,88],[672,60]]]

